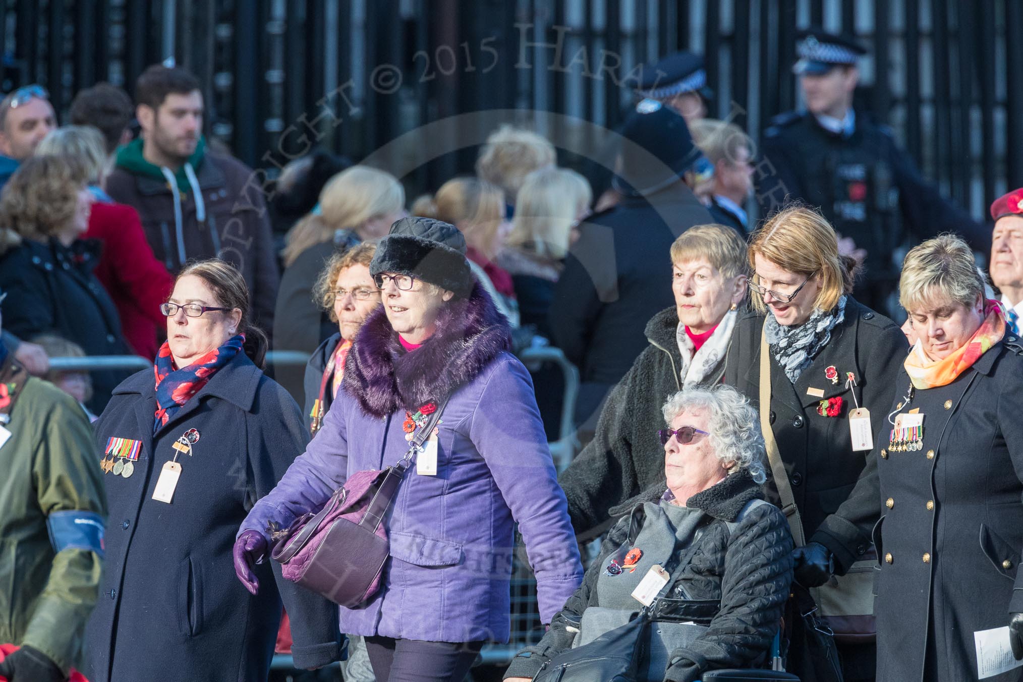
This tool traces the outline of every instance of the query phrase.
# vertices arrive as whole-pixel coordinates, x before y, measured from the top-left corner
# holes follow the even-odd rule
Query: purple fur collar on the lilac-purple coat
[[[383,306],[370,313],[345,363],[343,385],[370,416],[414,411],[472,381],[510,348],[507,320],[476,284],[468,299],[441,311],[436,333],[411,353],[402,349]]]

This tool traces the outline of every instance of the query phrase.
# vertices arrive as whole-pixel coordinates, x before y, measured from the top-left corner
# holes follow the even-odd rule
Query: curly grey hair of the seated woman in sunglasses
[[[682,412],[706,410],[709,413],[708,440],[714,455],[722,462],[733,462],[729,473],[747,469],[759,484],[767,480],[764,470],[764,439],[757,411],[750,401],[729,385],[712,389],[687,389],[668,398],[662,411],[668,426]]]

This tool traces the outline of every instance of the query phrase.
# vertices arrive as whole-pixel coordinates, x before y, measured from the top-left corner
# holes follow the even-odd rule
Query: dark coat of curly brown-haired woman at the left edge
[[[93,274],[98,258],[99,242],[93,239],[79,239],[71,247],[56,239],[26,239],[0,256],[0,289],[9,294],[3,303],[4,330],[26,342],[55,333],[86,355],[134,355],[121,335],[114,301]],[[89,409],[99,414],[128,372],[104,369],[90,375]]]

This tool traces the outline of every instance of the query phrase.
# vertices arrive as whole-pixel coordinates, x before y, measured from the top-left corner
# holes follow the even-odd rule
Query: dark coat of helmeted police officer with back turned
[[[647,348],[647,321],[674,304],[671,243],[711,222],[678,182],[647,198],[626,197],[580,225],[547,315],[551,340],[579,368],[578,423],[596,416],[601,401]]]

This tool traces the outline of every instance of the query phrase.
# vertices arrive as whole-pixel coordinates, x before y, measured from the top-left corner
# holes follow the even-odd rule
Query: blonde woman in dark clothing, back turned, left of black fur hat
[[[386,235],[405,215],[405,190],[390,173],[353,166],[331,178],[319,195],[319,213],[300,220],[284,237],[284,273],[274,316],[278,350],[312,353],[338,330],[318,302],[313,284],[335,253]],[[277,372],[296,401],[302,402],[303,368]]]

